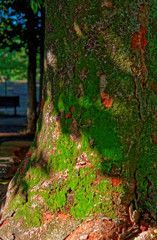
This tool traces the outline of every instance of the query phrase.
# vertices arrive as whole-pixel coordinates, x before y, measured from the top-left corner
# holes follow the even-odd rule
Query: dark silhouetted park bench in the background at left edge
[[[16,115],[16,107],[20,106],[19,96],[1,96],[0,107],[14,107],[14,114]]]

